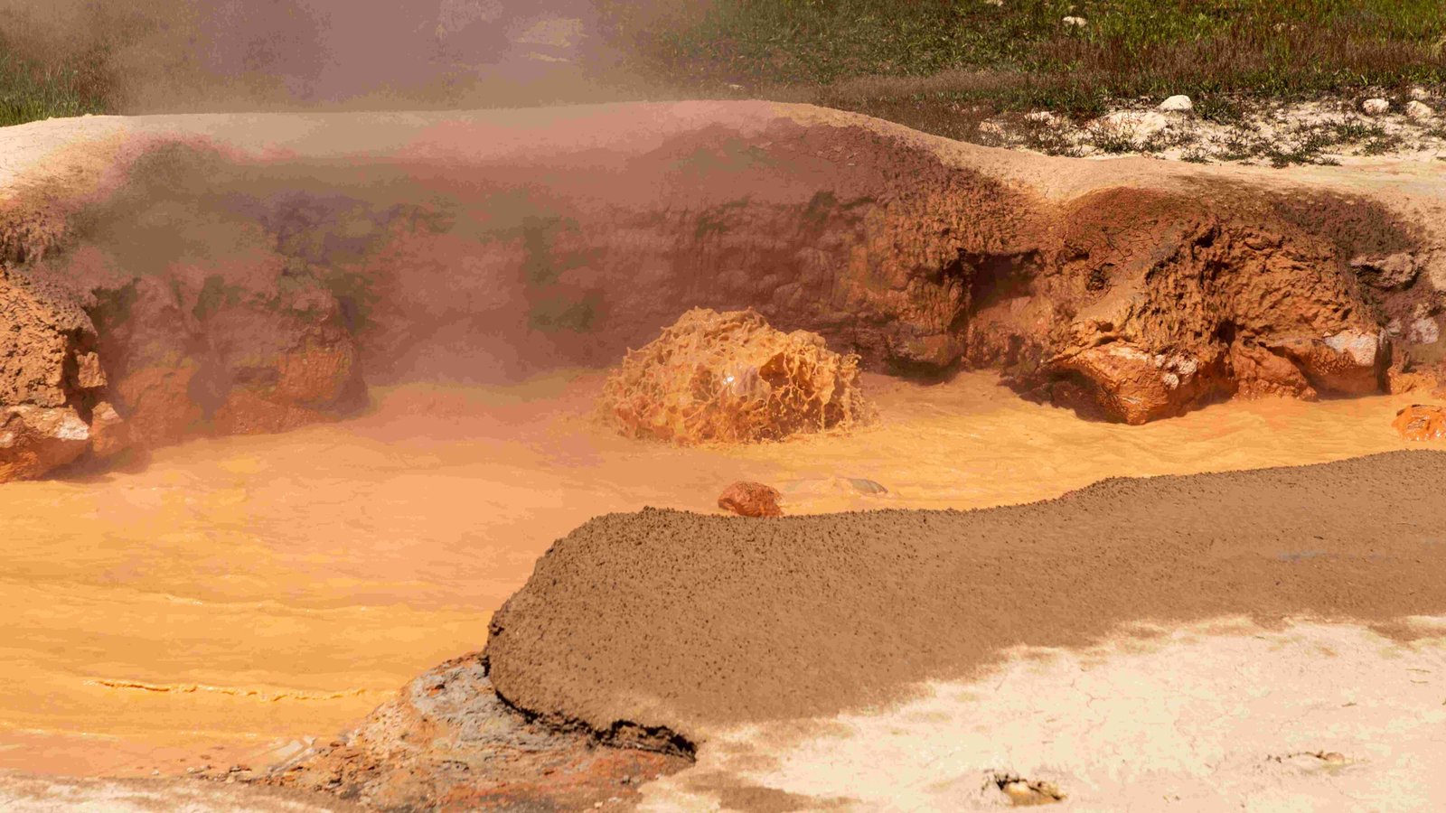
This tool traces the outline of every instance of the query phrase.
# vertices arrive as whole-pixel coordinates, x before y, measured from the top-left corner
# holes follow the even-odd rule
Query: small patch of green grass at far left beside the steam
[[[91,49],[45,62],[26,59],[0,36],[0,127],[107,113],[108,95],[104,51]]]

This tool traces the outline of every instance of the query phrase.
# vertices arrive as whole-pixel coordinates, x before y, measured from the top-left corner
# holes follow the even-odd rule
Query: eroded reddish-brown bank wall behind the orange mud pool
[[[521,153],[476,124],[343,159],[152,137],[120,181],[13,200],[0,479],[327,420],[366,383],[612,365],[691,307],[1128,422],[1432,383],[1446,253],[1379,203],[1209,176],[1060,200],[976,148],[732,110]]]

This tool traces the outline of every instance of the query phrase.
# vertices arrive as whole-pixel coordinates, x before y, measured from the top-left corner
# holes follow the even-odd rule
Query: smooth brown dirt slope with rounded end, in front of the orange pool
[[[490,678],[555,725],[671,732],[831,715],[1002,650],[1134,621],[1392,626],[1446,612],[1446,453],[1112,479],[972,512],[645,509],[560,540],[496,613]]]

